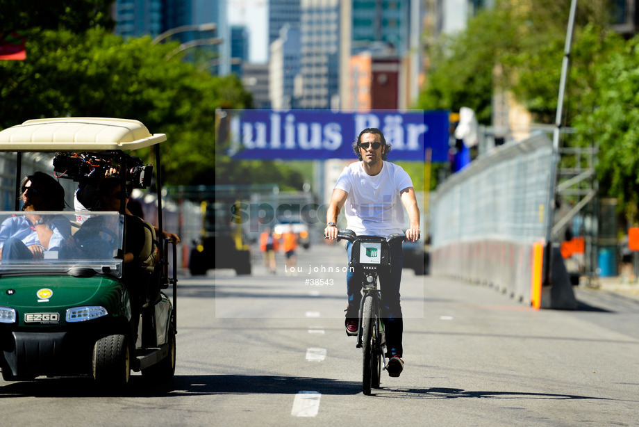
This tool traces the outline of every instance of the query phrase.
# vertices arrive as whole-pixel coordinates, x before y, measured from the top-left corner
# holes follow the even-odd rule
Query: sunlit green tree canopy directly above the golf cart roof
[[[40,31],[26,61],[1,61],[0,126],[31,118],[135,118],[165,133],[167,182],[210,177],[215,164],[215,110],[244,108],[249,95],[235,76],[220,78],[167,56],[176,44],[122,40],[103,29]]]

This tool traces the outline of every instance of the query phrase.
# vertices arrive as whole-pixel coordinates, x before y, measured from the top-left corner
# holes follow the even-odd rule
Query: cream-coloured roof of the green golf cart
[[[1,152],[137,150],[165,141],[138,120],[50,118],[27,120],[0,131]]]

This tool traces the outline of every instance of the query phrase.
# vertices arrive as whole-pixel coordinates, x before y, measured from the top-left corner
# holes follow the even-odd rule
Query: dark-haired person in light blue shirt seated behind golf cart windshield
[[[65,190],[56,179],[44,172],[35,172],[22,180],[22,216],[11,216],[0,225],[0,259],[43,259],[45,252],[60,252],[67,248],[71,223],[63,216],[47,220],[35,211],[62,211]],[[56,256],[57,257],[57,256]]]

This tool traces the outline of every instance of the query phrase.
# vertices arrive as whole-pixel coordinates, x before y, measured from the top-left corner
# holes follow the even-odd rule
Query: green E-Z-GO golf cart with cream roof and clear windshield
[[[131,370],[153,382],[172,380],[176,360],[176,250],[163,236],[159,143],[137,120],[53,118],[28,120],[0,131],[0,151],[17,152],[19,199],[22,152],[56,153],[56,177],[117,168],[122,188],[144,188],[153,166],[128,152],[155,150],[159,232],[145,225],[144,259],[129,275],[126,195],[117,211],[0,212],[0,246],[10,227],[46,225],[60,234],[38,257],[0,252],[0,369],[6,381],[38,376],[92,376],[99,387],[124,389]],[[55,166],[54,161],[54,166]],[[63,165],[65,170],[60,170]],[[73,171],[73,173],[72,173]],[[52,174],[53,170],[43,172]],[[147,175],[147,176],[144,176]],[[128,187],[125,187],[128,186]],[[124,192],[120,192],[124,193]],[[39,218],[33,222],[34,215]],[[28,231],[28,230],[27,230]],[[14,238],[12,238],[14,239]],[[1,248],[0,248],[1,250]],[[172,255],[172,256],[169,256]],[[170,258],[170,260],[169,260]],[[170,261],[170,262],[169,262]],[[172,286],[172,300],[163,292]],[[133,292],[135,290],[135,292]],[[142,296],[133,298],[132,294]],[[135,304],[139,304],[135,305]],[[136,314],[138,314],[136,316]]]

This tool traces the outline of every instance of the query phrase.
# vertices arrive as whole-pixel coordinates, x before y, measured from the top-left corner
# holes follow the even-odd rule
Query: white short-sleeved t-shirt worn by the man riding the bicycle
[[[344,204],[347,228],[367,236],[401,233],[404,205],[399,192],[412,186],[413,181],[401,166],[384,161],[381,172],[372,177],[364,171],[362,162],[351,163],[335,183],[335,188],[349,193]]]

